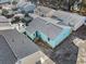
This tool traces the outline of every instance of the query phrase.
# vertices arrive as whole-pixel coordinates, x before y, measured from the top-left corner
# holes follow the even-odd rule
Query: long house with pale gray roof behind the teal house
[[[85,16],[46,7],[38,7],[35,14],[60,21],[59,25],[70,26],[73,30],[77,30],[85,22]]]

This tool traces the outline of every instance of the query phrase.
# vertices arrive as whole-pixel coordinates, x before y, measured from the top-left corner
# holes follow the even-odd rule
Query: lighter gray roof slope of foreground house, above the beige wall
[[[39,51],[39,48],[32,40],[15,29],[2,30],[0,35],[5,38],[17,60]]]

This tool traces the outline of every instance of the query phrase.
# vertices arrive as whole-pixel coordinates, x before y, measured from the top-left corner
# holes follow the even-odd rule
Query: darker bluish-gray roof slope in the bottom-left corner
[[[16,57],[4,37],[0,35],[0,64],[15,64]]]

